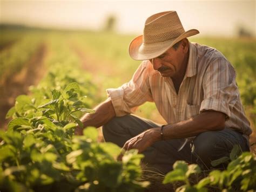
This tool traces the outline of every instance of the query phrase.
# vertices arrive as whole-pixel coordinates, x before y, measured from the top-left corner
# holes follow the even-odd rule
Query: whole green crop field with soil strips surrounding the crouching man
[[[91,109],[106,99],[106,88],[118,87],[132,77],[140,61],[129,57],[127,47],[136,35],[35,29],[1,29],[0,33],[0,138],[3,140],[0,190],[3,183],[7,183],[3,191],[143,190],[149,183],[140,178],[142,156],[136,151],[126,154],[126,161],[117,162],[120,149],[103,143],[100,129],[89,128],[83,137],[72,136],[74,122],[80,124],[83,113],[93,112]],[[195,37],[190,41],[215,47],[231,61],[254,130],[250,139],[253,144],[256,142],[256,40]],[[152,103],[141,106],[136,114],[164,123]],[[8,125],[11,118],[14,119]],[[4,132],[7,128],[11,131]],[[221,178],[231,174],[232,169],[240,173],[252,168],[255,156],[250,155],[244,154],[236,160],[247,163],[247,167],[238,170],[233,163],[230,172]],[[230,159],[235,160],[234,156]],[[249,160],[244,162],[246,158]],[[180,167],[185,167],[182,170],[186,170],[186,177],[181,181],[189,188],[188,176],[200,171],[180,162],[176,172],[180,172]],[[243,181],[241,189],[255,187],[251,172],[242,172],[249,179]],[[174,174],[166,177],[165,182],[179,181],[170,179]],[[239,174],[225,181],[232,184],[238,178]],[[219,184],[221,181],[214,182],[206,177],[206,184],[225,189],[224,184]]]

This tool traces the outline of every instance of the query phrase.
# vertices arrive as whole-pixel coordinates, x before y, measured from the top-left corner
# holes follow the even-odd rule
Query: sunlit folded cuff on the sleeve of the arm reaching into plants
[[[134,113],[137,107],[130,108],[124,101],[124,90],[123,88],[109,88],[106,90],[107,96],[111,98],[114,112],[116,116],[124,116],[130,113]]]

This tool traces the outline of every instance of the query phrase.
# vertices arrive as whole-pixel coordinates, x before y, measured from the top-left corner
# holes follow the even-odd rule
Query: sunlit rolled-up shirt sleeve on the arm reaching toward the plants
[[[153,101],[147,65],[148,63],[143,61],[128,83],[118,88],[106,90],[117,116],[134,113],[138,106],[144,104],[144,102]]]

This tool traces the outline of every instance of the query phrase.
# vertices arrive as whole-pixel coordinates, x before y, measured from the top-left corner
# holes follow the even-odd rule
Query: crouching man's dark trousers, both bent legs
[[[106,142],[116,143],[123,147],[124,143],[146,129],[159,127],[151,120],[139,118],[135,115],[115,117],[103,126],[103,136]],[[158,141],[148,147],[143,154],[143,163],[147,168],[157,172],[167,173],[172,170],[173,163],[184,160],[197,163],[203,169],[211,169],[211,161],[223,156],[229,156],[235,144],[240,145],[242,151],[248,151],[247,140],[241,133],[225,128],[222,131],[208,131],[200,133],[192,142],[187,142],[178,152],[184,139]],[[225,168],[225,164],[221,164]]]

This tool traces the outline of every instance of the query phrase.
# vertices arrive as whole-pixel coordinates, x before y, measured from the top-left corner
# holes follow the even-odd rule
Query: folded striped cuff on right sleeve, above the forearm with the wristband
[[[233,106],[233,105],[232,105]],[[231,117],[231,110],[227,102],[219,99],[204,99],[201,102],[200,113],[208,110],[218,111],[226,114],[225,120]]]

